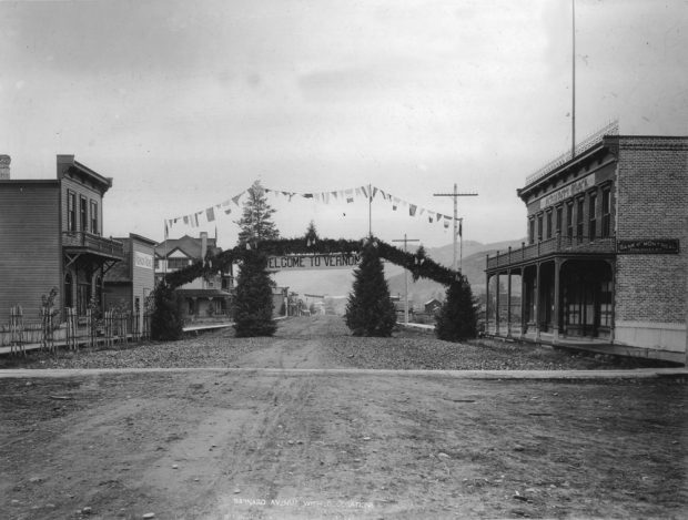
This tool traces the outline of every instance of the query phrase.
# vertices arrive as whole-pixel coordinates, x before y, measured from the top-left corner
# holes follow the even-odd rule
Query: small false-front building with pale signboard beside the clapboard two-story
[[[123,307],[142,318],[155,287],[155,241],[133,233],[117,241],[123,244],[124,259],[105,274],[103,307]]]

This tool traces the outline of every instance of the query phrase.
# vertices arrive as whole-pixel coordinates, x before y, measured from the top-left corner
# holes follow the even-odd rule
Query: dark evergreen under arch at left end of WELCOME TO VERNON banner
[[[277,326],[272,319],[272,286],[267,257],[245,252],[236,279],[234,330],[236,337],[272,336]]]

